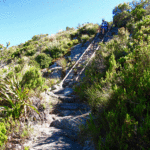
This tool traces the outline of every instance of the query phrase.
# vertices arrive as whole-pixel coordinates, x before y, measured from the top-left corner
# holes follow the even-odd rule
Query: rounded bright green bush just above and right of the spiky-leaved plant
[[[29,89],[42,87],[44,79],[42,79],[39,69],[31,67],[22,77],[21,86]]]

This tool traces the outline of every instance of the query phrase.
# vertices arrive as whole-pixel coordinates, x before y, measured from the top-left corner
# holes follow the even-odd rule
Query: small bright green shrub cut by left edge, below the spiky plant
[[[7,141],[6,132],[7,130],[4,123],[0,122],[0,147]]]

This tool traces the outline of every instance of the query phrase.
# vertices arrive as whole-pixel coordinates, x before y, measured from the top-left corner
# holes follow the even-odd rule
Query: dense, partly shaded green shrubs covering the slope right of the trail
[[[149,7],[142,6],[137,5],[126,18],[121,16],[125,12],[119,14],[115,22],[119,34],[101,44],[84,81],[75,89],[97,115],[81,133],[92,137],[100,150],[150,147],[150,13]],[[104,65],[103,72],[99,64]]]

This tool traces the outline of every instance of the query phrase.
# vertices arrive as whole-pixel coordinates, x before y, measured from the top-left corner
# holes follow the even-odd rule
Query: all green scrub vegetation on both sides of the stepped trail
[[[75,87],[80,99],[90,104],[96,116],[93,119],[90,115],[81,135],[92,137],[99,150],[148,149],[149,0],[119,4],[113,14],[118,35],[107,43],[100,43],[100,50],[86,69],[84,79]],[[39,113],[30,98],[59,82],[44,78],[41,71],[48,72],[49,66],[59,59],[65,73],[68,64],[63,56],[78,43],[92,39],[97,29],[97,24],[88,23],[77,30],[66,27],[66,31],[54,36],[34,35],[18,46],[8,48],[10,42],[6,47],[0,44],[0,149],[9,149],[13,135],[20,138],[20,143],[24,142],[30,129],[22,123],[26,124],[31,111]],[[41,108],[45,109],[45,105],[41,104]]]

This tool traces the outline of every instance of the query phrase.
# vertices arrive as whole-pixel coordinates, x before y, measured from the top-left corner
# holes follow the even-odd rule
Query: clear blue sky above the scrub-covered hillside
[[[19,45],[67,26],[112,21],[113,8],[132,0],[0,0],[0,44]]]

